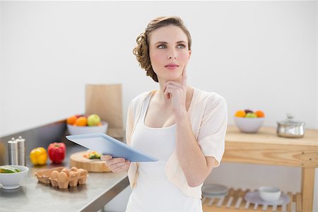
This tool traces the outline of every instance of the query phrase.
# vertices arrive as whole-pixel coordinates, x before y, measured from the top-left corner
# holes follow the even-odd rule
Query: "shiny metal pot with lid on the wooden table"
[[[287,114],[287,119],[277,122],[277,135],[286,138],[301,138],[305,135],[305,122],[295,121],[292,114]]]

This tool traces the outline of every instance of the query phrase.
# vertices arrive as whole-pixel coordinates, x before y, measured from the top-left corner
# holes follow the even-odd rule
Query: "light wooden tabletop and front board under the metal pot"
[[[278,137],[275,127],[263,126],[256,134],[246,134],[229,125],[223,161],[318,167],[317,132],[305,130],[304,137],[289,139]]]

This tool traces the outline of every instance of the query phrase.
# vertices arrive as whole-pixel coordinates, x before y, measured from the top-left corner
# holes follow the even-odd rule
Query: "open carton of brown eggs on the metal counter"
[[[86,184],[88,171],[77,167],[71,167],[71,170],[66,167],[55,167],[35,172],[35,176],[39,182],[52,184],[52,187],[59,187],[59,189],[67,189],[68,187],[76,187],[78,184]]]

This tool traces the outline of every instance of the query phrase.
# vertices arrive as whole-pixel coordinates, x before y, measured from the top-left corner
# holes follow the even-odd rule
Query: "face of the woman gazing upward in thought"
[[[149,56],[159,82],[179,80],[190,54],[187,35],[181,28],[167,25],[151,33]]]

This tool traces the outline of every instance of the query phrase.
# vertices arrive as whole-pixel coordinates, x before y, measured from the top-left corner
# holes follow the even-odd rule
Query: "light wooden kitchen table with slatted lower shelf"
[[[288,139],[278,137],[274,127],[263,126],[257,134],[244,134],[236,126],[229,125],[225,136],[223,162],[301,167],[301,192],[298,194],[288,192],[292,201],[287,206],[263,208],[247,206],[243,196],[248,191],[230,189],[228,196],[225,196],[222,202],[220,199],[203,199],[204,212],[237,210],[312,212],[314,169],[318,167],[317,158],[318,130],[316,129],[306,129],[305,136],[300,139]]]

